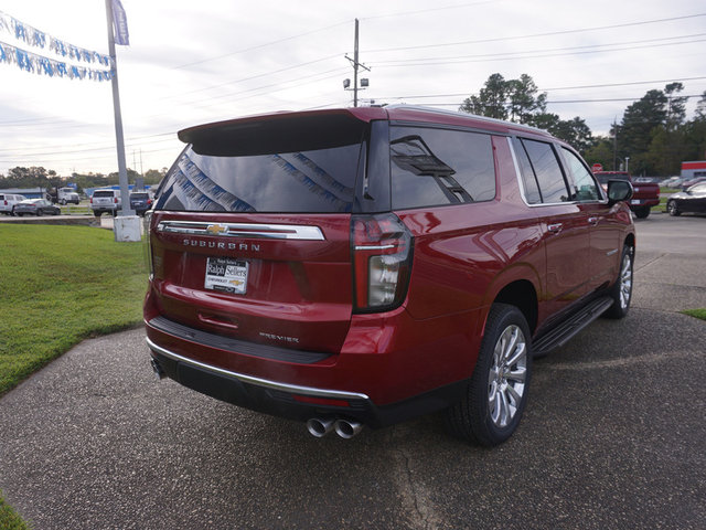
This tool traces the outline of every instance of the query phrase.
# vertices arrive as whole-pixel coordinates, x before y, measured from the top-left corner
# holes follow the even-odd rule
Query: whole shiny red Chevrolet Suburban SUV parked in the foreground
[[[446,410],[495,445],[533,356],[629,309],[631,186],[542,130],[394,106],[179,137],[147,221],[160,378],[315,436]]]

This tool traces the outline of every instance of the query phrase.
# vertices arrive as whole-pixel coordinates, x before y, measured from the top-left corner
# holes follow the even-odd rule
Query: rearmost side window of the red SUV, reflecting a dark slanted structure
[[[391,127],[393,208],[490,201],[495,165],[490,135]]]

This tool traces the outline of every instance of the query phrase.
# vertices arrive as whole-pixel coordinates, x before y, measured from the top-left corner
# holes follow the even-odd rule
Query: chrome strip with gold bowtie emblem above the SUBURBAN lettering
[[[325,241],[319,226],[298,224],[208,223],[200,221],[160,221],[158,232],[269,240]]]

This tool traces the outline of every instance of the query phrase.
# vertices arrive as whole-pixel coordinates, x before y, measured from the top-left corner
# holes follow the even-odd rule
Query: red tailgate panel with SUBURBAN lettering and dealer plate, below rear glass
[[[156,212],[162,316],[253,342],[336,351],[352,311],[350,214]]]

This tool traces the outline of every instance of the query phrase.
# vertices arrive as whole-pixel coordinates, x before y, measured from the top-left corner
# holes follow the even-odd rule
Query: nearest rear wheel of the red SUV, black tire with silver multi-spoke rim
[[[467,395],[446,411],[449,431],[492,447],[517,428],[532,374],[531,335],[515,306],[493,304]]]

